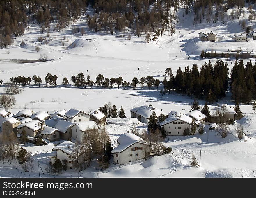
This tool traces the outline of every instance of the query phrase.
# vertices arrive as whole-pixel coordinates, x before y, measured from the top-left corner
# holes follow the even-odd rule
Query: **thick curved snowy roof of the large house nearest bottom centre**
[[[135,134],[132,134],[132,133],[124,133],[124,134],[120,135],[120,137],[117,139],[117,142],[120,145],[115,147],[111,151],[111,153],[120,153],[135,143],[144,144],[144,140],[142,138],[140,138],[139,136],[136,136]],[[148,143],[146,143],[146,144],[150,145]]]

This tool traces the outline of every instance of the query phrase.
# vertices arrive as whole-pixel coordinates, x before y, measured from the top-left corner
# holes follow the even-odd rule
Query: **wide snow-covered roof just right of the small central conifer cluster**
[[[138,114],[144,118],[150,118],[150,116],[152,115],[152,112],[155,111],[157,117],[160,116],[160,114],[163,114],[165,116],[168,116],[168,114],[166,114],[165,112],[161,111],[160,109],[157,109],[155,107],[152,107],[152,105],[143,105],[140,107],[135,107],[133,109],[130,110],[131,112]]]

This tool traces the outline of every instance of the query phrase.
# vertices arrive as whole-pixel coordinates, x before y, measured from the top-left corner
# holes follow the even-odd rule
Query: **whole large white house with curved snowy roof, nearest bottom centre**
[[[150,144],[144,144],[144,140],[135,134],[124,133],[117,142],[119,145],[111,151],[115,163],[126,164],[145,158],[145,154],[150,156]]]

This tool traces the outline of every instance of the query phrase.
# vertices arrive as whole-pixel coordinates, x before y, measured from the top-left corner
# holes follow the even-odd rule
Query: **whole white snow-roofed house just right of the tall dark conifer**
[[[183,135],[186,128],[190,129],[192,118],[183,114],[169,116],[165,121],[160,123],[166,130],[167,135]]]

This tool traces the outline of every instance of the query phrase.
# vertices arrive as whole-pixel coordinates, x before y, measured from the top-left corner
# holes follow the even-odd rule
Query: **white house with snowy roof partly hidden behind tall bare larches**
[[[72,138],[82,143],[83,136],[90,130],[98,130],[99,126],[95,121],[76,122],[72,126]]]

